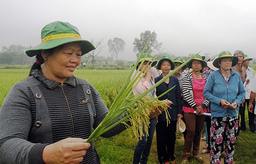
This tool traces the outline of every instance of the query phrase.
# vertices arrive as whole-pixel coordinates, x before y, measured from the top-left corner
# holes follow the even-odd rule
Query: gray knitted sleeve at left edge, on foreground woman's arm
[[[17,83],[0,110],[0,163],[43,163],[42,150],[47,144],[28,141],[31,119],[28,89]]]

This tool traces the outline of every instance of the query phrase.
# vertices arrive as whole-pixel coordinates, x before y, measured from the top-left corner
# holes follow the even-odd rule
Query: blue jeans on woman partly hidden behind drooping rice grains
[[[150,155],[150,148],[152,145],[153,135],[156,129],[156,119],[150,119],[150,127],[148,128],[148,136],[146,137],[146,132],[143,128],[143,134],[141,140],[139,140],[138,144],[134,150],[133,156],[133,164],[146,164],[147,157]]]

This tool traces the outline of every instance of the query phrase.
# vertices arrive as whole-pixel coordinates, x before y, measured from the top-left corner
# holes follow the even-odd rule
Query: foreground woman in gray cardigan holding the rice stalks
[[[30,77],[12,87],[0,110],[0,163],[100,163],[94,143],[85,142],[109,110],[88,81],[74,77],[94,49],[68,22],[42,28],[41,43],[26,51],[36,57]]]

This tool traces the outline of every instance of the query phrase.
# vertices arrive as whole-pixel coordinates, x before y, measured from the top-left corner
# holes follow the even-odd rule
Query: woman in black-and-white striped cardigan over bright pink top
[[[203,163],[199,156],[201,131],[209,101],[203,97],[203,89],[207,78],[201,74],[201,70],[207,63],[200,55],[196,55],[188,62],[187,66],[192,72],[187,74],[182,82],[183,112],[186,123],[186,135],[182,163],[187,163],[190,154],[193,154],[198,162]],[[191,150],[192,149],[192,150]]]

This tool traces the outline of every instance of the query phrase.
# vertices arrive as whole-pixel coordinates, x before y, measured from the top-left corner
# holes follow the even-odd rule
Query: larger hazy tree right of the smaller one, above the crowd
[[[146,45],[146,42],[148,41],[152,33],[153,33],[153,36],[150,42],[148,43],[145,53],[149,51],[149,53],[151,54],[154,51],[159,51],[161,49],[161,46],[163,43],[162,42],[158,43],[157,34],[155,32],[151,32],[150,30],[146,30],[145,32],[140,34],[140,38],[135,38],[133,42],[133,45],[134,45],[133,51],[137,53],[136,54],[137,58],[139,57],[140,53],[144,49],[144,46]]]

